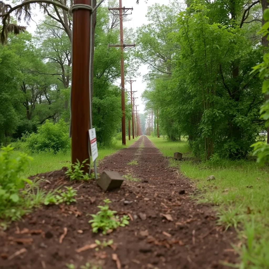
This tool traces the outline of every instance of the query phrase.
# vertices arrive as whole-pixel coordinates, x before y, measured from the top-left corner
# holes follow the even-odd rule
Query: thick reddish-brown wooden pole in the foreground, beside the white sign
[[[90,0],[75,0],[74,4],[91,5]],[[72,163],[82,163],[89,156],[90,129],[90,10],[77,9],[73,12],[72,42],[72,91],[71,91],[71,151]],[[89,172],[88,165],[84,165]]]

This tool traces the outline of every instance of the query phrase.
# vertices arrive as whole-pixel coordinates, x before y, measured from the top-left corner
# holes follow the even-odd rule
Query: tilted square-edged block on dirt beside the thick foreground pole
[[[105,191],[121,187],[124,178],[115,171],[105,170],[97,181],[97,184]]]

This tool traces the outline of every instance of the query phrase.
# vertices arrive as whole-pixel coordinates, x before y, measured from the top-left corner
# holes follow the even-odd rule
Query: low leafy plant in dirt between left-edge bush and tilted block
[[[73,187],[65,187],[65,188],[66,191],[54,190],[48,192],[44,199],[44,204],[45,205],[60,204],[60,203],[70,204],[72,202],[76,202],[77,200],[74,197],[77,196],[77,190],[74,190]]]

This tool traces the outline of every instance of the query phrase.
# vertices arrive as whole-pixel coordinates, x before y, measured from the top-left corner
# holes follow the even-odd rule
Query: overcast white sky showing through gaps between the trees
[[[128,18],[131,19],[131,21],[129,22],[125,22],[124,23],[124,27],[127,28],[133,28],[134,31],[136,31],[137,27],[142,26],[143,24],[147,24],[148,20],[146,18],[146,14],[147,14],[147,8],[149,5],[153,5],[155,3],[159,3],[160,5],[162,4],[169,4],[169,0],[148,0],[147,3],[145,3],[144,0],[140,0],[139,1],[139,5],[136,5],[136,0],[122,0],[122,5],[125,6],[126,8],[131,8],[133,7],[133,14],[132,15],[128,15]],[[42,12],[39,11],[39,9],[36,9],[36,15],[33,16],[33,21],[30,22],[30,25],[27,27],[27,30],[34,34],[35,30],[36,30],[36,23],[38,24],[39,20],[42,20],[44,18],[44,15]],[[147,84],[145,82],[143,82],[143,75],[145,75],[147,73],[147,66],[146,65],[141,65],[139,68],[139,73],[140,76],[133,78],[134,80],[136,80],[136,82],[133,83],[133,90],[137,91],[135,93],[135,97],[138,97],[138,99],[136,99],[136,104],[139,104],[138,109],[140,110],[139,113],[143,113],[144,112],[144,105],[141,101],[141,94],[143,93],[143,91],[146,89]],[[126,77],[127,79],[127,77]],[[118,83],[116,83],[117,85],[119,85],[119,83],[121,82],[120,79],[117,81]],[[125,88],[126,89],[130,89],[130,84],[126,83],[125,84]]]

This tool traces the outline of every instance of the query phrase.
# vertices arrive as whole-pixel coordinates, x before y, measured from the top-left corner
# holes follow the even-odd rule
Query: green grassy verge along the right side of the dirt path
[[[173,157],[179,151],[190,157],[186,142],[168,142],[163,138],[149,137],[165,156]],[[195,196],[198,203],[212,203],[218,211],[218,223],[228,229],[234,226],[242,247],[238,252],[238,268],[269,268],[269,169],[254,161],[215,160],[193,163],[170,160],[174,167],[194,180],[202,195]],[[214,175],[215,180],[206,180]]]

